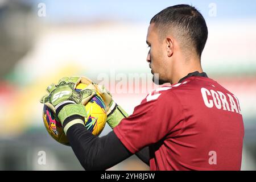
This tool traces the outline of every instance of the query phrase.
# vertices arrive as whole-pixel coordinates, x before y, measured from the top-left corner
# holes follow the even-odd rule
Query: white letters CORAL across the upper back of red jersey
[[[232,111],[233,113],[234,111],[236,111],[236,113],[241,114],[240,105],[236,96],[234,95],[231,96],[229,93],[226,93],[226,95],[229,97],[229,101],[228,101],[224,93],[220,91],[216,92],[215,90],[209,91],[206,88],[201,88],[201,94],[202,94],[205,106],[209,108],[212,108],[213,106],[215,106],[217,109],[222,108],[223,110]],[[234,101],[234,98],[237,100],[237,103]],[[229,108],[229,105],[231,107],[231,110]]]

